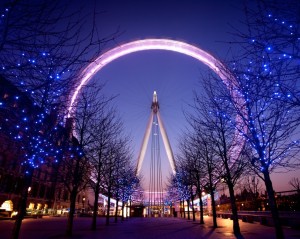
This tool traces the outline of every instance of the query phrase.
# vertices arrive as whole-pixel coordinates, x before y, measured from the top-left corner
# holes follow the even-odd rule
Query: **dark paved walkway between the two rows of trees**
[[[25,219],[22,224],[20,239],[60,239],[66,238],[67,218],[45,217],[43,219]],[[10,238],[14,221],[0,221],[0,238]],[[72,238],[125,238],[125,239],[220,239],[235,238],[232,233],[232,221],[218,218],[219,227],[212,228],[212,218],[205,217],[205,225],[183,218],[130,218],[119,220],[105,226],[104,218],[98,218],[97,230],[91,231],[91,218],[75,218]],[[274,228],[259,223],[240,221],[241,232],[245,239],[275,238]],[[284,228],[288,239],[300,238],[300,230]]]

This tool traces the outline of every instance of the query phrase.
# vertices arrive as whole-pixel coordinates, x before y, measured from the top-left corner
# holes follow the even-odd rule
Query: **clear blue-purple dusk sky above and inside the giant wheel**
[[[92,2],[92,1],[91,1]],[[99,1],[97,25],[100,37],[117,30],[120,35],[103,49],[112,49],[138,39],[167,38],[195,45],[222,60],[231,50],[230,25],[240,28],[243,1],[185,0],[185,1]],[[93,8],[93,4],[86,5]],[[193,90],[201,92],[199,79],[209,73],[201,62],[175,52],[151,50],[132,53],[111,62],[94,78],[105,82],[106,95],[118,95],[115,104],[134,143],[137,159],[146,124],[150,116],[153,91],[157,91],[160,112],[176,155],[177,142],[186,126],[183,110],[193,98]],[[149,143],[151,140],[149,141]],[[150,145],[149,145],[150,146]],[[150,148],[150,147],[148,147]],[[170,167],[161,141],[164,175]],[[148,156],[148,157],[147,157]],[[142,173],[149,170],[146,154]],[[299,171],[297,172],[299,174]],[[294,174],[274,177],[276,191],[291,189],[287,182]]]

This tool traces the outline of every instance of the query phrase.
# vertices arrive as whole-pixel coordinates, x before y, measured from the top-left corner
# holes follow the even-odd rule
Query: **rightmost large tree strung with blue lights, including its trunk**
[[[284,238],[270,174],[300,164],[300,4],[256,4],[255,9],[246,9],[246,30],[234,33],[242,51],[230,63],[237,80],[233,90],[244,102],[235,112],[244,125],[240,133],[251,148],[249,161],[265,182],[276,237]],[[236,100],[231,98],[233,105]]]

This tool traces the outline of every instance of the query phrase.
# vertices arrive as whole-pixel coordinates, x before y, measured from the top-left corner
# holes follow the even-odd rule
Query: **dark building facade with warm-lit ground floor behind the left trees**
[[[55,111],[50,114],[41,112],[41,109],[35,106],[26,94],[2,77],[0,77],[0,86],[0,216],[11,216],[19,207],[21,193],[25,187],[24,157],[28,145],[26,147],[19,138],[29,136],[30,132],[26,132],[24,121],[34,119],[37,114],[43,114],[45,131],[47,127],[53,127],[57,122]],[[27,113],[26,116],[22,115],[24,112]],[[58,125],[56,133],[51,138],[52,144],[59,144],[70,134],[72,143],[76,144],[77,140],[70,130],[72,128]],[[43,130],[40,132],[44,133]],[[60,167],[63,164],[51,155],[46,155],[41,162],[34,168],[31,184],[27,188],[27,213],[66,213],[69,208],[70,193],[59,177]],[[82,210],[89,206],[85,197],[85,191],[77,195],[76,209]]]

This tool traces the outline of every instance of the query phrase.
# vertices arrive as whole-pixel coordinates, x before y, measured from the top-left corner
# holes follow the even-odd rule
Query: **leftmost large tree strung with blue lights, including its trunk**
[[[26,95],[31,102],[25,110],[18,108],[13,119],[5,120],[7,127],[1,128],[23,150],[27,178],[13,238],[19,235],[34,170],[56,154],[64,154],[65,147],[60,147],[54,131],[63,124],[68,94],[80,70],[99,54],[100,45],[109,41],[95,34],[95,18],[84,18],[82,9],[68,6],[64,1],[0,3],[0,75],[19,88],[21,100]],[[91,23],[90,29],[85,20]],[[58,110],[53,120],[48,115],[54,105]]]

